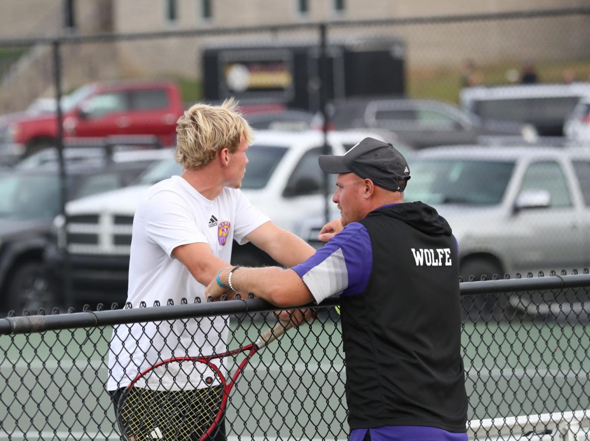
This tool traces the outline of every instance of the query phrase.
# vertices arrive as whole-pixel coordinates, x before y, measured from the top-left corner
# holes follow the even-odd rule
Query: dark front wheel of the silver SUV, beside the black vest
[[[476,281],[481,280],[482,275],[485,275],[488,280],[491,280],[494,274],[503,278],[499,264],[491,259],[480,257],[461,262],[459,274],[464,282],[468,282],[471,275]],[[469,318],[471,321],[501,320],[507,314],[507,305],[508,299],[505,294],[467,295],[461,297],[461,314],[463,318]]]

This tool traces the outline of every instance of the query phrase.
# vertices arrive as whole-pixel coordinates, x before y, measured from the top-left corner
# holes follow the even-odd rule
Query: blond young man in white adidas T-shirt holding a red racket
[[[252,242],[285,266],[313,255],[310,245],[278,228],[240,191],[253,134],[235,101],[195,104],[176,131],[182,175],[150,187],[133,219],[127,294],[133,308],[169,299],[205,301],[205,286],[228,266],[234,239]],[[107,390],[116,401],[121,388],[160,360],[222,353],[227,335],[224,317],[121,325],[111,340]],[[224,432],[215,439],[224,439]]]

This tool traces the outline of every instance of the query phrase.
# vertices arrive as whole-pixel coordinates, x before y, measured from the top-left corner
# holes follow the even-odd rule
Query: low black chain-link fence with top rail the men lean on
[[[461,293],[470,437],[590,439],[590,275],[464,282]],[[228,439],[346,439],[337,302],[251,361]],[[237,348],[276,322],[274,309],[247,299],[1,318],[0,439],[119,439],[105,391],[117,332],[151,324],[180,348],[174,323],[222,316]]]

